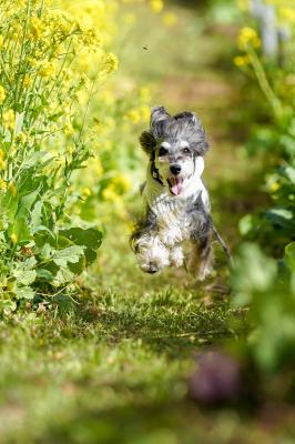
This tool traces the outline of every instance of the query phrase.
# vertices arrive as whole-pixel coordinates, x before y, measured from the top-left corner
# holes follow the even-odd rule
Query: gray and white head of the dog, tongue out
[[[163,107],[154,107],[151,129],[142,133],[140,141],[172,195],[182,194],[195,173],[201,176],[208,144],[195,114],[185,111],[171,117]]]

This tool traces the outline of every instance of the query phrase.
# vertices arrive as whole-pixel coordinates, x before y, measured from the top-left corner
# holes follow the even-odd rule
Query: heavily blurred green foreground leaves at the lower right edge
[[[295,360],[295,242],[278,263],[254,243],[244,243],[235,260],[234,302],[251,305],[254,329],[247,350],[265,372],[278,372]]]

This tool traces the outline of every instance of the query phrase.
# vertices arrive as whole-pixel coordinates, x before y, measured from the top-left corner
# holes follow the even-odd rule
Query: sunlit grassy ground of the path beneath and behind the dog
[[[241,148],[247,110],[231,61],[235,28],[174,8],[177,27],[157,29],[148,18],[132,54],[134,36],[126,37],[122,70],[152,79],[159,103],[172,112],[195,110],[204,121],[213,215],[234,249],[238,219],[265,199],[258,165]],[[130,198],[129,212],[139,205]],[[216,246],[216,274],[202,285],[184,270],[150,276],[136,269],[128,235],[124,222],[109,226],[88,282],[93,292],[74,313],[28,306],[0,324],[0,443],[292,443],[287,414],[282,431],[269,412],[208,411],[187,396],[196,352],[246,330],[244,314],[231,306],[223,253]]]

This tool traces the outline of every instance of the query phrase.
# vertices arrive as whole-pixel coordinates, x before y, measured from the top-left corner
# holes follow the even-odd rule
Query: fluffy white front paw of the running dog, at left
[[[169,250],[156,232],[143,234],[136,241],[138,262],[142,271],[156,273],[170,265]]]

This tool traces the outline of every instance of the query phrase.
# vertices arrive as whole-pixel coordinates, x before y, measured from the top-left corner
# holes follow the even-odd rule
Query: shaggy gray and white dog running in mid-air
[[[145,214],[131,235],[140,268],[156,273],[170,265],[182,266],[183,243],[190,241],[189,269],[204,280],[212,270],[212,232],[220,236],[201,179],[208,149],[201,121],[192,112],[171,117],[165,108],[154,107],[150,130],[140,142],[150,157],[142,186]]]

